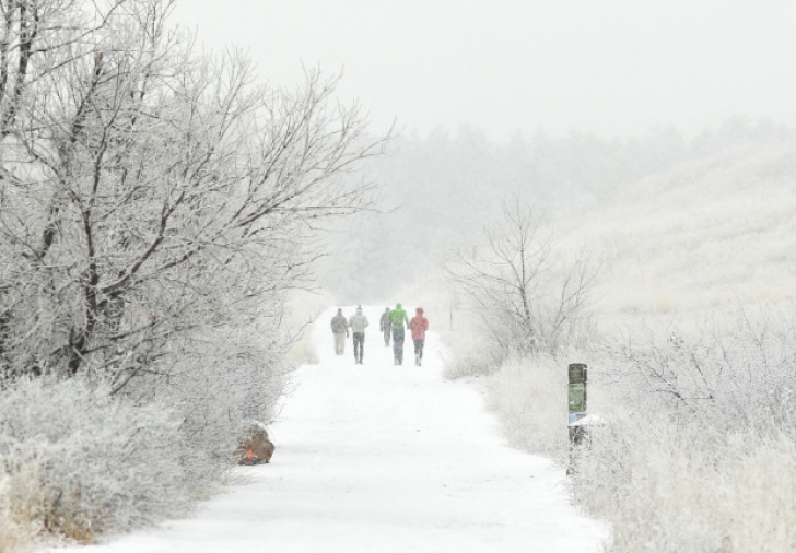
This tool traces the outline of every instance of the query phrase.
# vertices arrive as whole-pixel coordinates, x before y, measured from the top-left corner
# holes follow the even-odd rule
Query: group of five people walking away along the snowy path
[[[368,320],[362,314],[362,306],[356,307],[356,314],[349,319],[342,314],[342,309],[337,310],[337,315],[331,319],[331,331],[335,334],[335,353],[343,355],[346,349],[346,338],[353,334],[354,360],[358,365],[362,364],[362,355],[365,346],[365,328]],[[351,329],[351,332],[349,332]],[[393,364],[403,364],[403,341],[406,330],[410,330],[412,341],[414,342],[414,364],[422,365],[423,348],[425,346],[425,332],[429,330],[429,319],[423,316],[423,308],[418,307],[415,315],[409,319],[407,311],[403,310],[401,304],[396,304],[395,309],[385,308],[379,320],[379,329],[384,334],[384,345],[389,346],[393,340]]]

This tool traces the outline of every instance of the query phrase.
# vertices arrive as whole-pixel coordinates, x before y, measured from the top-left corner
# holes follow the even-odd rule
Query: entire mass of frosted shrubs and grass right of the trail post
[[[796,549],[795,328],[766,310],[609,348],[620,401],[573,492],[611,523],[611,552]]]

